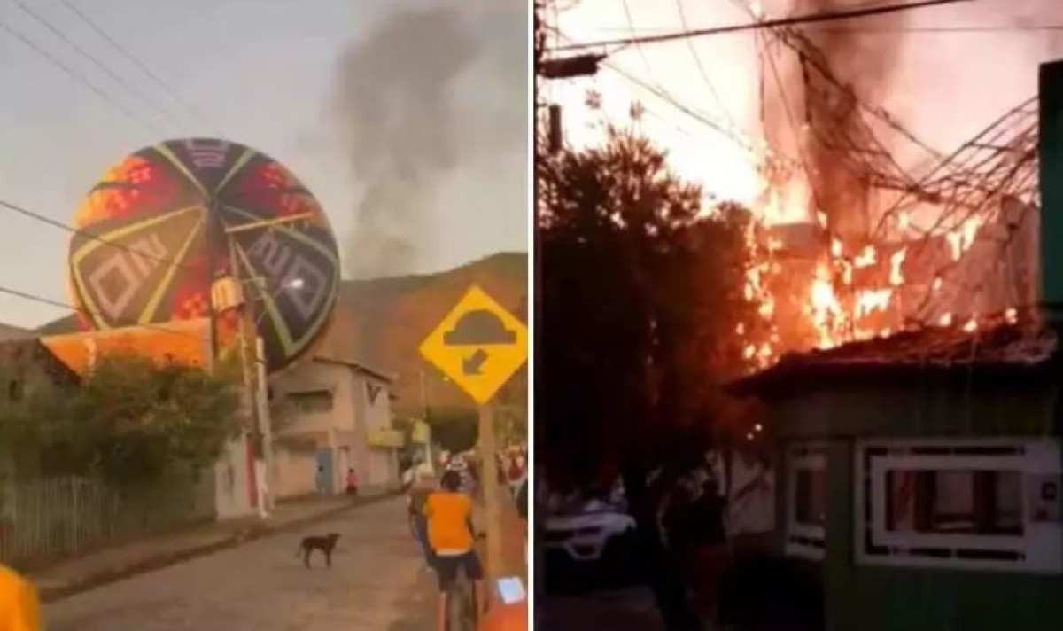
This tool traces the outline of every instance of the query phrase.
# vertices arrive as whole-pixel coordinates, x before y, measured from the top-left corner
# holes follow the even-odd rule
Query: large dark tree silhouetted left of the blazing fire
[[[550,475],[588,483],[704,448],[720,384],[744,369],[748,213],[704,209],[626,131],[537,170],[536,451]]]

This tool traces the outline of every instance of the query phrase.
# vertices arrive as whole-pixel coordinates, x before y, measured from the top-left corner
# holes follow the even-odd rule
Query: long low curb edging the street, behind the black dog
[[[307,517],[302,517],[300,519],[293,519],[287,524],[280,526],[269,526],[267,524],[255,524],[250,527],[242,528],[233,532],[231,535],[210,544],[200,545],[192,548],[186,548],[184,550],[175,550],[172,552],[166,552],[157,554],[142,561],[134,562],[130,565],[122,567],[116,567],[113,569],[105,569],[95,574],[90,574],[86,577],[75,579],[69,583],[54,587],[41,587],[38,588],[38,596],[40,601],[44,603],[55,602],[56,600],[62,600],[64,598],[69,598],[77,594],[83,592],[88,592],[97,587],[102,587],[103,585],[115,583],[128,578],[132,578],[137,575],[146,574],[149,571],[154,571],[156,569],[163,569],[171,565],[176,565],[178,563],[183,563],[185,561],[191,561],[200,557],[206,557],[208,554],[214,554],[222,550],[227,550],[230,548],[239,547],[242,544],[250,543],[256,539],[265,538],[275,534],[284,534],[286,532],[291,532],[293,530],[299,530],[304,526],[310,524],[317,524],[319,521],[325,521],[337,515],[347,513],[354,509],[359,509],[369,504],[373,504],[386,499],[398,497],[400,493],[391,492],[377,495],[374,497],[360,498],[345,504],[342,507],[337,507],[309,515]]]

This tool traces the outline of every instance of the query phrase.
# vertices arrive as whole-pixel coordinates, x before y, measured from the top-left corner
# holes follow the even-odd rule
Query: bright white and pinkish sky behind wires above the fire
[[[559,14],[557,24],[574,41],[618,39],[630,36],[632,22],[639,35],[684,30],[680,10],[689,29],[746,23],[749,15],[741,2],[580,0]],[[790,14],[791,4],[789,0],[762,2],[769,18]],[[853,5],[866,2],[855,0]],[[807,9],[800,11],[805,12]],[[982,0],[912,11],[906,16],[905,27],[1029,27],[1061,23],[1061,18],[1058,0]],[[876,23],[883,22],[868,18],[850,20],[845,27],[873,29]],[[861,36],[885,35],[872,32]],[[1037,63],[1060,56],[1063,36],[1059,31],[909,33],[898,52],[891,87],[879,104],[931,146],[950,151],[1033,96]],[[714,121],[733,120],[737,129],[747,132],[754,140],[763,137],[752,32],[631,46],[611,55],[608,64],[669,93]],[[859,78],[843,79],[855,81],[857,90],[861,90]],[[636,124],[669,152],[673,168],[681,176],[701,182],[718,198],[750,202],[760,193],[756,157],[746,149],[615,70],[603,67],[594,78],[549,83],[542,98],[564,107],[566,137],[573,145],[600,142],[603,118],[629,123],[630,104],[638,101],[647,112]],[[601,111],[585,105],[588,90],[601,93]],[[789,145],[792,138],[778,142]]]

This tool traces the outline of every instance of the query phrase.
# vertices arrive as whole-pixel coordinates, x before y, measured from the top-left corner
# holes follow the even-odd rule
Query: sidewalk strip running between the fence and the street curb
[[[388,497],[393,497],[393,494],[357,499],[334,496],[283,501],[277,503],[266,521],[257,517],[243,517],[190,527],[180,532],[68,559],[30,572],[30,579],[36,584],[41,600],[52,602],[244,542],[294,530]]]

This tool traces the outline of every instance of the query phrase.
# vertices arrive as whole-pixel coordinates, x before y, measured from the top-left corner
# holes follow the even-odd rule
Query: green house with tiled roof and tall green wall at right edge
[[[831,630],[1063,629],[1063,62],[1040,110],[1036,305],[732,384],[767,410],[772,546],[822,579]]]

